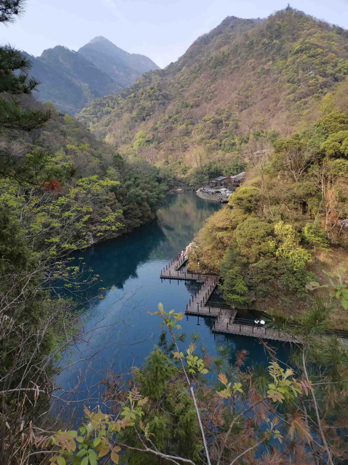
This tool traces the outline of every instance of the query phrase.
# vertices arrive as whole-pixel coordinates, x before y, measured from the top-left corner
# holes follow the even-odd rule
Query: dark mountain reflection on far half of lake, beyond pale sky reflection
[[[100,275],[103,280],[100,286],[122,289],[127,279],[137,278],[137,268],[149,260],[160,270],[163,262],[191,242],[203,221],[219,207],[217,203],[200,199],[196,193],[173,195],[151,223],[118,239],[77,252],[76,257],[83,257],[86,269],[91,267],[93,273]],[[84,292],[84,298],[97,296],[100,286]]]

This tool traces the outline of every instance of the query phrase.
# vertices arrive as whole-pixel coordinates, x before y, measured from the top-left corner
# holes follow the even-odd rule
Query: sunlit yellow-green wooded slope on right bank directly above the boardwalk
[[[245,183],[195,238],[191,266],[219,270],[237,306],[301,321],[313,305],[309,283],[347,270],[348,113],[330,96],[322,110],[272,153],[249,153]],[[332,307],[331,328],[348,329],[347,304]]]

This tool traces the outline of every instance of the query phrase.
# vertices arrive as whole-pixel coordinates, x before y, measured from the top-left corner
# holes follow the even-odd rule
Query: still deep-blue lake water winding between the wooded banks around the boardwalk
[[[175,312],[184,312],[191,291],[195,289],[190,281],[161,282],[161,268],[191,242],[205,219],[219,208],[216,202],[200,199],[194,192],[176,194],[158,210],[153,222],[78,253],[103,279],[106,291],[103,300],[97,298],[97,287],[86,292],[91,299],[90,308],[86,310],[86,331],[90,339],[77,345],[72,357],[74,365],[58,378],[64,389],[83,380],[80,386],[85,389],[78,389],[78,398],[83,400],[84,390],[97,386],[108,369],[123,373],[132,365],[141,365],[161,332],[160,319],[149,315],[146,309],[154,312],[162,302],[166,311],[174,308]],[[249,352],[249,364],[266,362],[257,339],[225,335],[214,338],[213,319],[185,317],[181,326],[188,336],[188,344],[189,335],[199,332],[199,344],[204,344],[212,355],[216,354],[217,344],[225,343],[231,349],[231,363],[235,352],[241,349]],[[278,356],[286,358],[284,346],[275,341],[271,345],[279,349]],[[215,378],[216,374],[208,376]],[[97,399],[98,394],[96,387],[93,397]]]

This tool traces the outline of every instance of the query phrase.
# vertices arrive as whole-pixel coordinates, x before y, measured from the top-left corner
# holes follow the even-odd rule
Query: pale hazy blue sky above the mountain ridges
[[[27,0],[15,24],[0,25],[0,44],[32,55],[64,45],[78,50],[97,35],[167,66],[226,16],[265,18],[287,0]],[[348,0],[292,0],[291,7],[348,29]]]

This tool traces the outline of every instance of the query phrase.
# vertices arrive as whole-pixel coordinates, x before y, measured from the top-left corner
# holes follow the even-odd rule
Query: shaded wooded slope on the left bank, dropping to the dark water
[[[1,198],[7,206],[14,202],[19,210],[13,213],[17,211],[19,216],[20,209],[29,202],[26,215],[18,218],[19,225],[31,228],[39,222],[45,242],[45,238],[59,236],[58,217],[74,205],[78,211],[74,222],[79,218],[81,223],[77,227],[72,222],[70,233],[77,234],[74,240],[90,241],[93,237],[98,240],[100,227],[103,237],[105,233],[105,237],[116,237],[153,219],[167,191],[166,172],[142,160],[126,162],[112,146],[97,141],[69,114],[59,113],[53,106],[50,111],[50,120],[43,128],[1,134]],[[53,226],[55,220],[48,212],[58,205],[62,209],[54,213],[58,223]],[[82,219],[80,215],[87,211]],[[41,215],[47,214],[41,223]],[[108,229],[105,218],[116,227]]]

